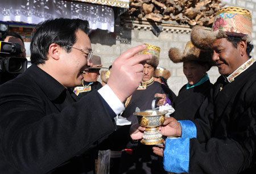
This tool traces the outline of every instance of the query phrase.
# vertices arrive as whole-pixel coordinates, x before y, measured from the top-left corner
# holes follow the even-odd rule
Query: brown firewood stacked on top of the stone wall
[[[210,27],[220,0],[131,0],[129,16],[155,22],[176,22]]]

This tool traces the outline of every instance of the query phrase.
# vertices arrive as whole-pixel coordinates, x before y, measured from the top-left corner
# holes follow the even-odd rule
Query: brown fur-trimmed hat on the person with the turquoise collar
[[[212,54],[210,54],[210,52],[196,48],[196,46],[194,46],[191,41],[188,41],[183,54],[181,54],[179,48],[171,48],[169,50],[169,58],[174,63],[187,61],[205,62],[208,63],[209,69],[214,65]]]

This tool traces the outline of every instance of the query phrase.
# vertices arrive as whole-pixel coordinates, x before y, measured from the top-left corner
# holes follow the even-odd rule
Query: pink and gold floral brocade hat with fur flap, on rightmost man
[[[204,50],[210,50],[214,40],[228,36],[241,37],[243,41],[250,42],[252,25],[249,10],[226,7],[217,12],[212,31],[206,31],[204,27],[193,27],[191,41]]]

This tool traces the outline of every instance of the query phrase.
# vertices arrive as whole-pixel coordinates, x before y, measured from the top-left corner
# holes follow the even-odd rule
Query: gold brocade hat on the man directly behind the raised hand
[[[146,49],[144,49],[139,54],[152,54],[152,58],[150,60],[147,60],[146,63],[153,66],[158,67],[159,64],[159,56],[160,56],[160,47],[150,45],[150,44],[144,44],[146,45]]]

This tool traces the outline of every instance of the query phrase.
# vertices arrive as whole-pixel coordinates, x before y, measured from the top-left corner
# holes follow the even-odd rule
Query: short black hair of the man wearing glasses
[[[30,44],[31,63],[40,64],[47,60],[49,45],[59,44],[66,52],[71,52],[71,48],[64,45],[73,46],[76,43],[76,32],[81,29],[86,34],[89,32],[87,20],[56,18],[39,23],[32,32]],[[34,35],[33,35],[34,34]]]

